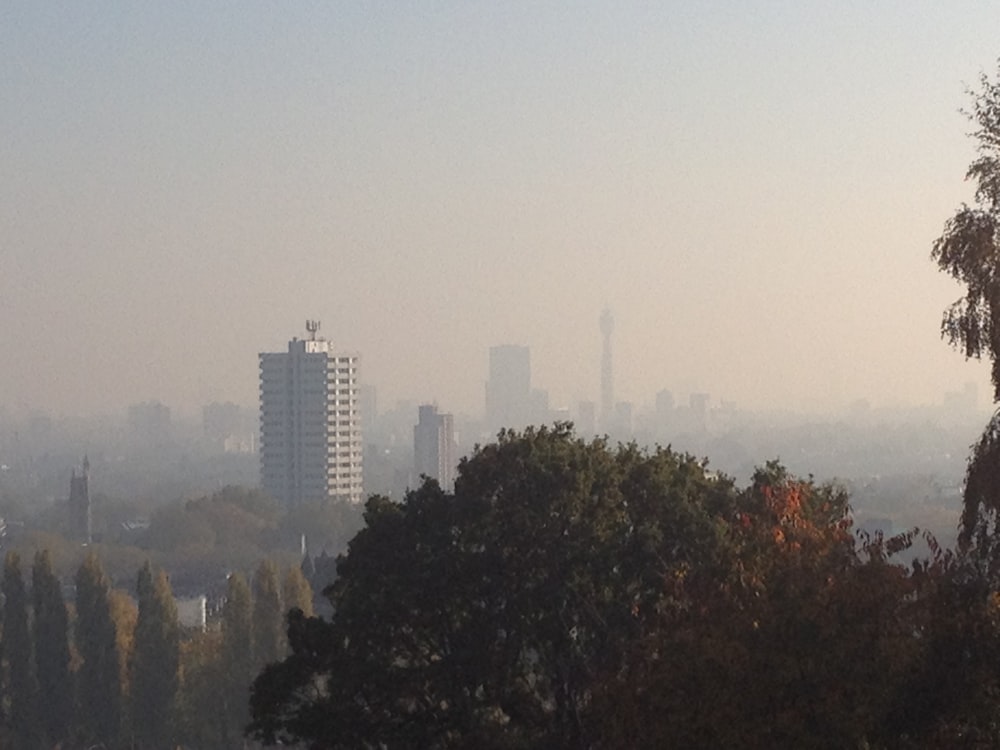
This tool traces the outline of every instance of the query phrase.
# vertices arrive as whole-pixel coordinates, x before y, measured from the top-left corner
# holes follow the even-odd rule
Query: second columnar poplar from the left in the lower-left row
[[[64,742],[70,735],[73,683],[69,671],[69,617],[47,550],[35,554],[31,590],[40,724],[47,745],[52,747]]]

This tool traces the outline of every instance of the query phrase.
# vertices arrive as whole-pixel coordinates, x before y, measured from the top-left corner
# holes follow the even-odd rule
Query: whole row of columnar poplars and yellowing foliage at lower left
[[[285,656],[285,612],[312,614],[302,571],[261,562],[229,576],[220,617],[182,628],[170,583],[146,563],[135,597],[112,588],[96,554],[69,601],[49,552],[30,585],[17,552],[4,561],[0,747],[242,748],[250,683]]]

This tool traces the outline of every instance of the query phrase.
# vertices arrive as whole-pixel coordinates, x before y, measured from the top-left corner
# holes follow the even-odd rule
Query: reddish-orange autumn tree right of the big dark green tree
[[[656,567],[666,595],[654,627],[596,690],[603,746],[882,739],[921,642],[914,579],[888,561],[909,537],[856,549],[846,495],[776,464],[725,525],[724,564],[707,578]]]

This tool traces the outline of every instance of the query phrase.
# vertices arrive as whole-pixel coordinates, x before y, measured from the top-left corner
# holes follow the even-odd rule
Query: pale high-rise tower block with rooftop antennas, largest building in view
[[[362,500],[358,355],[335,353],[317,338],[260,354],[261,487],[293,506]]]

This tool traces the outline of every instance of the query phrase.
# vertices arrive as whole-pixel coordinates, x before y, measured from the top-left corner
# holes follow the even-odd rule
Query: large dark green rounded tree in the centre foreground
[[[593,744],[595,680],[655,622],[664,576],[707,578],[729,544],[731,483],[668,450],[559,425],[502,433],[459,473],[454,494],[369,501],[333,620],[293,614],[291,657],[255,684],[259,737]]]

